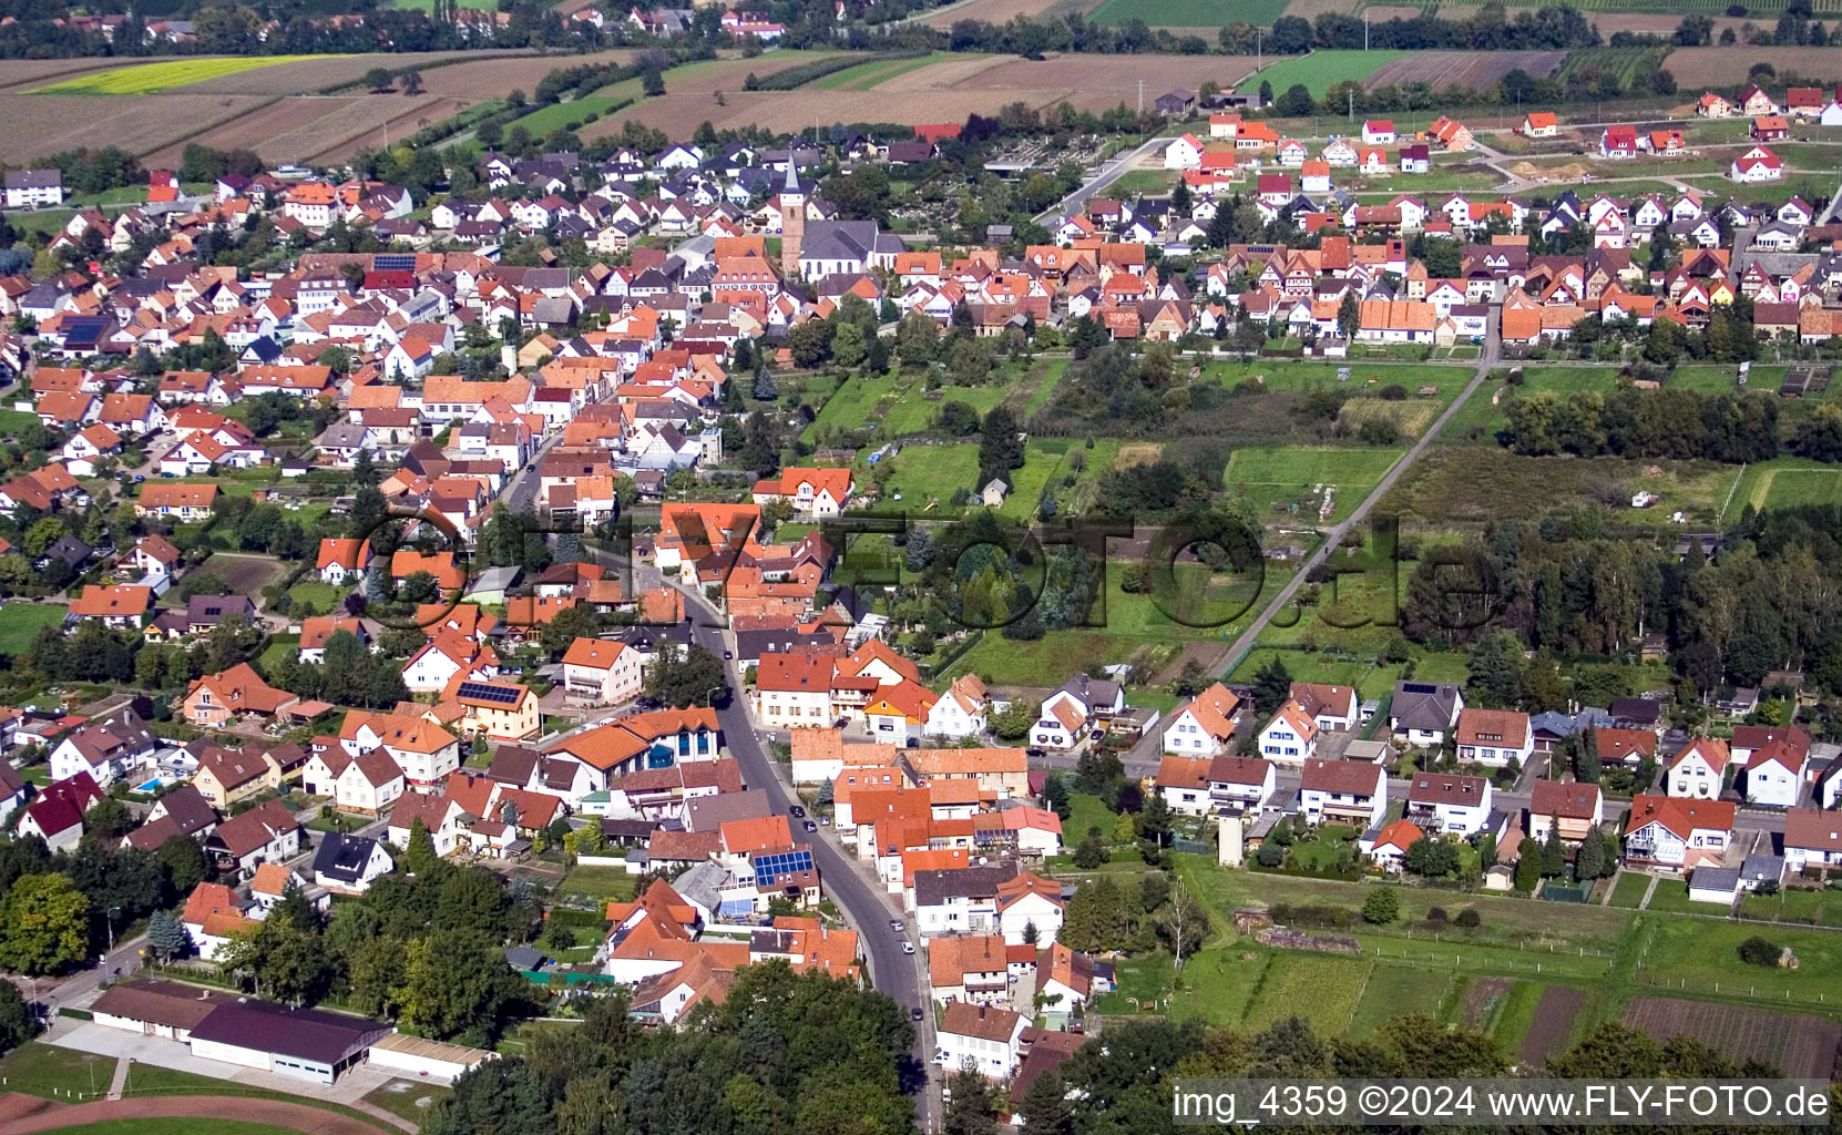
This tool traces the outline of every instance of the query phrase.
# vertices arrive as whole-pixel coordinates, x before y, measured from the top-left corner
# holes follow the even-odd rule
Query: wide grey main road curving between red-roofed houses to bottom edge
[[[680,588],[680,593],[685,597],[687,608],[698,608],[694,612],[687,610],[693,617],[693,638],[700,647],[722,658],[728,643],[724,641],[722,628],[715,625],[718,623],[718,615],[696,591]],[[768,803],[785,816],[787,809],[798,803],[798,798],[779,778],[777,763],[761,746],[761,737],[755,733],[753,722],[748,720],[748,702],[742,696],[742,678],[735,663],[726,663],[726,669],[729,671],[729,687],[735,691],[735,696],[729,698],[728,706],[717,709],[717,722],[722,726],[729,755],[740,765],[742,781],[750,789],[763,789],[768,794]],[[903,953],[903,942],[910,942],[908,934],[914,934],[914,927],[908,927],[908,934],[890,930],[890,919],[903,918],[903,912],[890,903],[888,894],[880,886],[858,872],[855,859],[845,859],[847,853],[831,840],[829,829],[805,835],[803,838],[812,844],[812,862],[818,866],[825,895],[858,932],[871,984],[893,997],[895,1004],[903,1006],[904,1012],[914,1008],[925,1010],[928,997],[921,988],[919,954]],[[934,1056],[932,1017],[917,1023],[914,1052],[915,1059],[921,1061],[921,1069],[927,1069],[928,1059]],[[934,1111],[932,1083],[919,1093],[915,1107],[921,1113],[921,1129],[932,1131],[936,1128],[930,1122]]]

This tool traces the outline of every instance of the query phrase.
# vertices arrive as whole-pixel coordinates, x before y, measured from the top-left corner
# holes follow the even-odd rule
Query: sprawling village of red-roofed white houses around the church
[[[1195,109],[1173,94],[1173,116]],[[1728,321],[1824,348],[1842,330],[1833,203],[1748,192],[1781,181],[1790,123],[1842,125],[1842,101],[1752,87],[1696,107],[1748,120],[1720,203],[1588,184],[1376,203],[1363,179],[1479,142],[1440,118],[1308,146],[1216,111],[1207,138],[1142,144],[1168,195],[1094,177],[1041,243],[993,227],[910,249],[825,199],[847,171],[932,162],[956,123],[833,149],[488,153],[477,199],[433,203],[293,170],[186,195],[155,171],[144,205],[72,212],[44,249],[57,271],[0,276],[0,634],[22,695],[0,708],[0,824],[28,864],[6,873],[0,936],[70,919],[0,953],[39,1045],[356,1106],[501,1059],[512,1017],[623,997],[634,1023],[678,1028],[785,962],[899,1004],[923,1115],[976,1072],[1011,1122],[1146,954],[1181,969],[1195,919],[1229,940],[1273,925],[1238,903],[1223,925],[1192,890],[1203,872],[1323,855],[1370,894],[1518,908],[1682,890],[1654,908],[1722,929],[1750,899],[1818,894],[1842,864],[1842,748],[1766,719],[1785,682],[1529,713],[1468,682],[1404,676],[1383,700],[1236,682],[1232,663],[1170,698],[1127,658],[985,680],[934,628],[917,645],[897,584],[849,564],[877,531],[851,521],[901,512],[936,540],[1048,521],[1052,497],[1013,497],[1033,439],[991,400],[958,437],[1017,461],[904,499],[877,468],[897,446],[814,446],[777,389],[827,365],[880,376],[941,339],[1197,369],[1439,350],[1475,367],[1450,416],[1499,363],[1566,357],[1588,326],[1634,361],[1660,326],[1685,343]],[[1555,129],[1531,111],[1518,133]],[[1685,149],[1680,129],[1599,138],[1595,170]],[[64,199],[57,170],[4,184],[7,210]],[[258,230],[297,252],[284,271],[216,262]],[[348,251],[354,234],[383,251]],[[503,260],[540,238],[538,263]],[[103,267],[131,251],[133,271]],[[956,348],[914,363],[960,367]],[[1002,512],[1013,499],[1030,512]],[[1323,499],[1341,538],[1354,505]],[[1814,680],[1789,706],[1814,709]],[[168,903],[70,883],[72,862],[127,855],[166,864]],[[1122,945],[1094,895],[1140,855],[1175,883],[1146,899],[1148,945]],[[495,993],[468,1012],[359,1010],[330,978],[282,977],[291,934],[457,877],[490,879],[507,918],[481,962]],[[1363,919],[1394,921],[1367,903]],[[1367,943],[1302,940],[1345,945]]]

